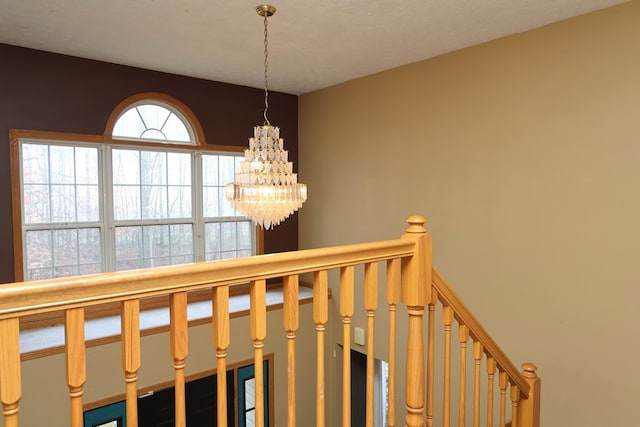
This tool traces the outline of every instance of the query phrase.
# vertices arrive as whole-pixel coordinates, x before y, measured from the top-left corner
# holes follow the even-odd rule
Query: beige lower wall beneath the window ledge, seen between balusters
[[[298,417],[304,422],[315,417],[315,388],[308,386],[308,372],[315,372],[315,328],[311,320],[312,305],[300,306],[300,330],[297,333]],[[282,310],[267,312],[265,354],[274,353],[275,420],[286,424],[287,343],[282,326]],[[231,321],[231,346],[228,363],[253,359],[253,343],[249,334],[249,317]],[[173,381],[173,361],[169,353],[168,333],[142,338],[142,368],[138,372],[139,388]],[[306,356],[309,352],[309,356]],[[211,325],[189,329],[187,375],[215,369],[216,355],[212,345]],[[63,427],[70,425],[68,388],[65,380],[64,355],[35,359],[22,364],[22,399],[20,425]],[[91,403],[124,393],[120,344],[108,344],[87,350],[87,382],[84,402]],[[0,417],[0,426],[4,421]]]

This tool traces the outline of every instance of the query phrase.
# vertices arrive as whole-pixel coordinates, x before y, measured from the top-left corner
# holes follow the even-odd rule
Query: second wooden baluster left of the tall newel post
[[[367,310],[367,395],[365,425],[373,427],[375,385],[374,320],[378,308],[378,263],[364,266],[364,308]]]

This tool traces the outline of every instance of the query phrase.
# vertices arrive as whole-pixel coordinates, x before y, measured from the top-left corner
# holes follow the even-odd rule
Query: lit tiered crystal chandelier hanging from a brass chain
[[[276,12],[270,5],[256,6],[264,17],[264,124],[253,128],[249,148],[235,180],[226,185],[227,200],[262,228],[270,229],[287,219],[307,200],[307,186],[298,183],[288,151],[283,149],[280,129],[267,118],[269,86],[267,80],[267,18]]]

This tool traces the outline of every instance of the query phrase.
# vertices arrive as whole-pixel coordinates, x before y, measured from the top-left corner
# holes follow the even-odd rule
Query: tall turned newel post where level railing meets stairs
[[[402,238],[413,240],[416,246],[412,257],[402,259],[402,302],[407,306],[409,315],[405,367],[405,425],[418,427],[425,423],[422,318],[428,296],[431,295],[431,236],[424,228],[424,217],[412,216],[407,222],[409,227]]]

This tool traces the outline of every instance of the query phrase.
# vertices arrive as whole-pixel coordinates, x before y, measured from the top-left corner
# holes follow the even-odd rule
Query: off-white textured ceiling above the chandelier
[[[625,2],[274,0],[269,88],[303,94]],[[0,0],[0,43],[262,87],[257,4]]]

